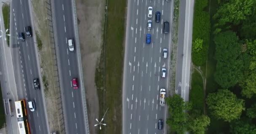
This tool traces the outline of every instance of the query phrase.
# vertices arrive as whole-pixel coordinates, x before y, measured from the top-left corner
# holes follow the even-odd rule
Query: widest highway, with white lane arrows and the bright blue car
[[[153,7],[153,17],[147,17],[148,7]],[[165,0],[128,0],[126,24],[125,62],[123,76],[123,134],[159,134],[157,121],[165,122],[166,108],[159,105],[160,88],[168,89],[169,60],[171,52],[171,20],[173,2]],[[155,12],[160,11],[160,23],[155,22]],[[147,21],[152,20],[152,29]],[[169,33],[163,33],[163,22],[169,21]],[[146,34],[151,43],[146,44]],[[168,58],[163,59],[163,48]],[[161,69],[167,77],[161,77]],[[168,90],[167,90],[168,92]]]

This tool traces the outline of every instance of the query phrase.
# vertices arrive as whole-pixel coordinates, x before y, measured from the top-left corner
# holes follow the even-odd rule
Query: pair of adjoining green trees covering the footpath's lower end
[[[171,127],[171,130],[177,134],[184,134],[189,131],[193,134],[204,134],[205,128],[210,124],[210,118],[205,115],[198,115],[198,112],[189,114],[192,110],[192,104],[184,102],[183,98],[174,94],[170,98],[166,98],[168,104],[169,117],[166,123]]]

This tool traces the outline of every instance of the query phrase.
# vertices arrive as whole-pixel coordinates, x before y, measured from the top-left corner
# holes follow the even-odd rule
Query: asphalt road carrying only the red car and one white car
[[[71,83],[72,78],[80,81],[71,0],[54,0],[53,7],[65,130],[67,134],[86,134],[80,83],[76,90]],[[73,39],[75,52],[69,51],[68,39]]]

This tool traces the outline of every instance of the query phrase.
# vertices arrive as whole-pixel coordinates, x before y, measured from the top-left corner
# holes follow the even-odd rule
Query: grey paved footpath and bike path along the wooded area
[[[189,101],[193,7],[194,0],[180,0],[175,90],[184,101]]]

